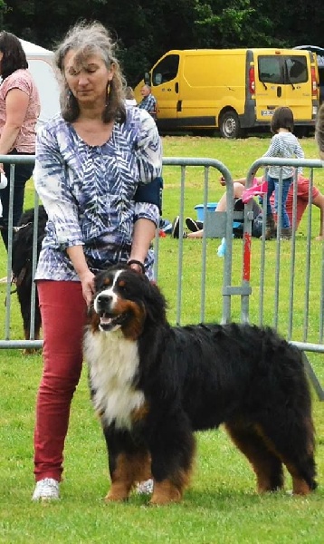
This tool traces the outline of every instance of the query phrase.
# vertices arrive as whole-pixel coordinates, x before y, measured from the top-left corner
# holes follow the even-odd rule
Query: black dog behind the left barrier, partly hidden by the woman
[[[45,236],[45,226],[47,214],[43,206],[39,207],[38,229],[37,229],[37,259],[42,247],[42,241]],[[13,239],[13,261],[12,269],[14,283],[16,285],[17,296],[24,323],[24,338],[30,338],[31,330],[31,296],[33,286],[33,222],[34,209],[24,211],[18,229]],[[40,337],[42,325],[41,313],[39,310],[39,301],[37,289],[35,294],[35,316],[34,316],[34,338]]]

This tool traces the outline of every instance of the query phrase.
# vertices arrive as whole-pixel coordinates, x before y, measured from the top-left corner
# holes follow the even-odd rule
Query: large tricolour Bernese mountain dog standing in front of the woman
[[[182,499],[194,432],[224,427],[250,461],[257,491],[316,488],[310,390],[300,351],[270,327],[171,326],[166,300],[127,266],[95,278],[84,335],[91,398],[107,443],[111,486],[127,500],[153,478],[150,504]]]

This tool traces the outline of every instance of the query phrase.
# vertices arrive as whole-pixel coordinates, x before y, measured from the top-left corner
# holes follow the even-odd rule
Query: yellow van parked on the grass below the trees
[[[289,106],[297,131],[309,131],[319,108],[316,54],[293,49],[169,51],[144,78],[157,99],[160,131],[219,129],[238,138],[269,126]],[[135,95],[140,101],[138,83]]]

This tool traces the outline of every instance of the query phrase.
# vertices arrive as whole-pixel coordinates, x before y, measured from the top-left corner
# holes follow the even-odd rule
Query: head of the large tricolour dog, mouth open
[[[120,329],[126,338],[136,340],[143,331],[154,289],[157,287],[147,277],[129,267],[110,267],[100,272],[95,277],[90,308],[92,331],[113,333]]]

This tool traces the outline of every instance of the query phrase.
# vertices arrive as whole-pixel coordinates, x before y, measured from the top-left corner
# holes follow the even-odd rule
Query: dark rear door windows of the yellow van
[[[306,56],[260,56],[259,80],[262,83],[294,84],[308,81]]]

